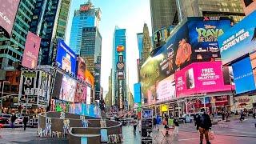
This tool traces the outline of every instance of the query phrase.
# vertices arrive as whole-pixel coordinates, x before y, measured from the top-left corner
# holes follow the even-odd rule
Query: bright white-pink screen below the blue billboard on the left
[[[62,87],[60,90],[59,99],[67,102],[74,102],[76,85],[77,82],[73,78],[70,78],[70,76],[63,74]]]

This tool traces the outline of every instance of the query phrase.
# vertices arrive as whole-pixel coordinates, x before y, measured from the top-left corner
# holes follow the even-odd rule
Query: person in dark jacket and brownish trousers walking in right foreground
[[[201,109],[201,112],[203,112],[202,115],[198,115],[197,118],[197,130],[199,130],[200,133],[200,144],[202,144],[203,135],[205,135],[206,138],[206,144],[210,144],[209,141],[209,130],[211,129],[211,121],[210,116],[206,114],[206,111],[204,109]]]

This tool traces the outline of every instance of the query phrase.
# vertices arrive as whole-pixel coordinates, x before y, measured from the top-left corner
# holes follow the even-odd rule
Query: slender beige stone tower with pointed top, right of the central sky
[[[146,58],[150,56],[150,51],[152,50],[149,27],[146,25],[146,23],[144,23],[144,26],[143,26],[142,42],[143,42],[142,62],[145,62]]]

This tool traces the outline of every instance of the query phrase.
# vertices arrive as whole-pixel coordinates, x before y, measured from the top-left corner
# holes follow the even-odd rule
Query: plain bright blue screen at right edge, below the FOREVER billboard
[[[254,73],[250,58],[232,64],[236,94],[255,90]]]

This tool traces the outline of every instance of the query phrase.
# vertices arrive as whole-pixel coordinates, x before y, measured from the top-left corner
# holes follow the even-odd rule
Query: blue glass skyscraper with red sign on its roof
[[[88,1],[74,11],[70,33],[70,47],[86,61],[86,68],[95,78],[95,99],[100,98],[102,36],[98,26],[101,10]]]

